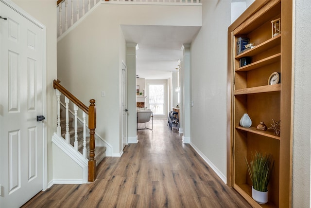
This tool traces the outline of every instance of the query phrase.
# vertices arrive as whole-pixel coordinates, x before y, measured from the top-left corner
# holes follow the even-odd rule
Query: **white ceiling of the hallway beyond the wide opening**
[[[201,27],[121,25],[126,43],[137,43],[136,74],[146,79],[167,79]]]

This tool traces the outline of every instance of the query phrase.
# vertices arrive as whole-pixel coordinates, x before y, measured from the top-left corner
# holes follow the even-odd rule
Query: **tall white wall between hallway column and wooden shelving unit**
[[[191,43],[191,144],[226,180],[227,32],[230,1],[202,1],[202,28]],[[217,21],[215,21],[217,19]]]

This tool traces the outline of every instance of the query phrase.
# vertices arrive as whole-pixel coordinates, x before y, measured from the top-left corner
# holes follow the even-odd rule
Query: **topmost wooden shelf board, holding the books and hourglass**
[[[254,48],[249,49],[249,50],[243,52],[242,54],[239,54],[235,58],[240,59],[242,57],[252,57],[252,56],[255,56],[261,52],[264,52],[264,51],[266,51],[266,50],[268,50],[268,49],[270,49],[276,45],[280,45],[281,35],[282,34],[279,34],[278,36],[276,36],[274,38],[268,39],[268,40],[264,41],[263,43],[259,44],[258,46],[255,46]]]

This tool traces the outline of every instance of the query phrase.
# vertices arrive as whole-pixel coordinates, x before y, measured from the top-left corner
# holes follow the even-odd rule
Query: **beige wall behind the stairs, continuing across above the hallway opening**
[[[58,78],[82,102],[96,100],[96,132],[113,146],[112,153],[116,155],[122,151],[120,69],[125,54],[122,24],[200,26],[201,7],[103,2],[58,41]],[[101,91],[106,92],[105,97],[101,97]]]

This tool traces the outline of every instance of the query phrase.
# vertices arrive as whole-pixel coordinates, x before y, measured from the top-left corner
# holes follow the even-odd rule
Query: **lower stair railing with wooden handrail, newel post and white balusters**
[[[65,139],[69,144],[69,100],[73,103],[74,111],[74,149],[78,151],[78,125],[77,125],[77,112],[80,108],[83,113],[83,155],[86,158],[86,114],[88,114],[88,129],[89,129],[89,159],[88,159],[88,181],[94,182],[96,174],[96,161],[95,161],[95,129],[96,129],[96,106],[95,100],[90,99],[90,104],[87,107],[78,98],[72,95],[68,90],[66,90],[60,83],[60,81],[53,81],[53,88],[56,90],[57,97],[57,130],[58,136],[61,136],[61,126],[60,126],[60,96],[61,94],[65,96],[66,105],[66,134]]]

